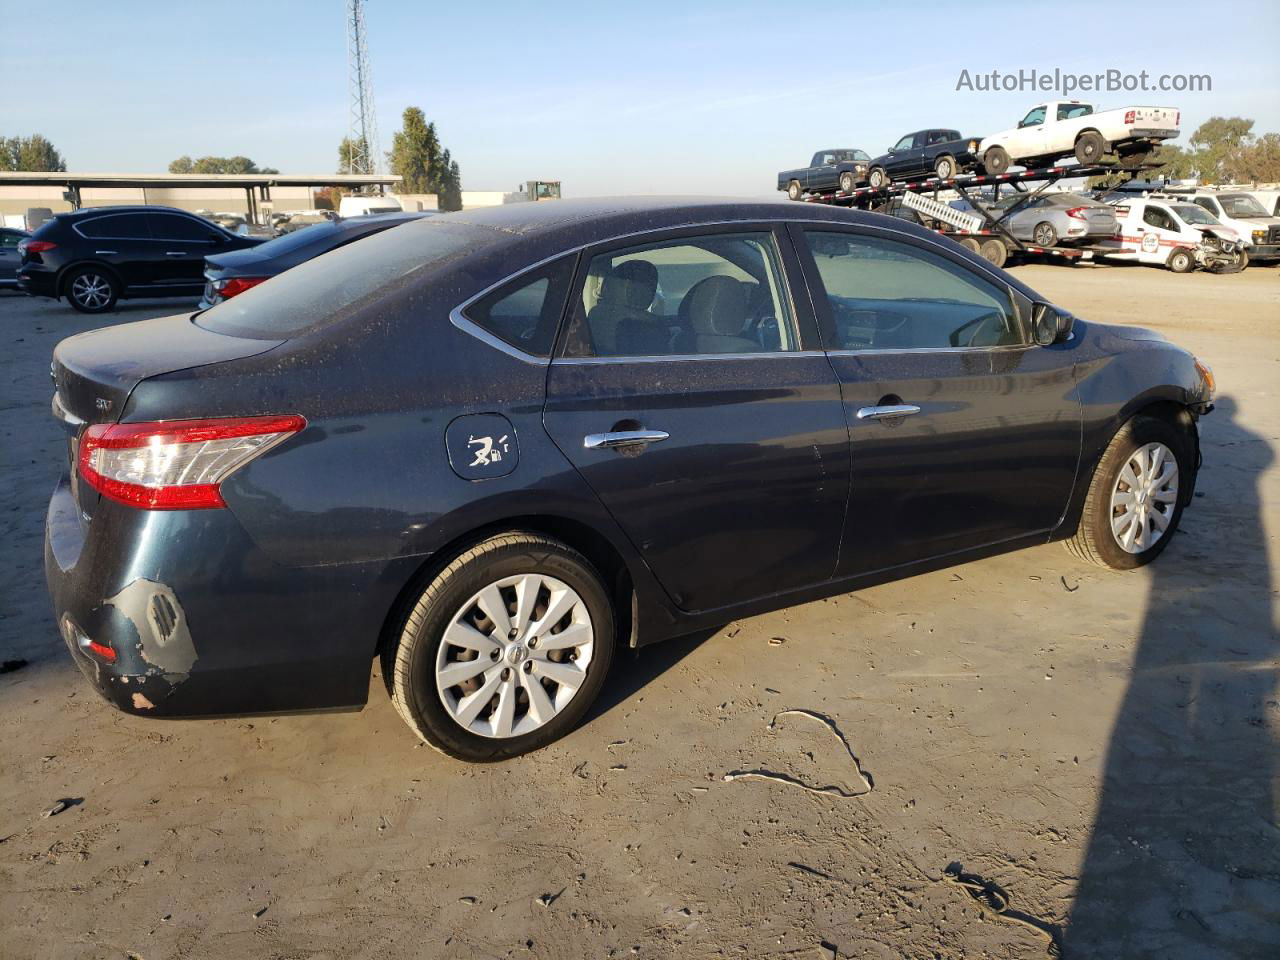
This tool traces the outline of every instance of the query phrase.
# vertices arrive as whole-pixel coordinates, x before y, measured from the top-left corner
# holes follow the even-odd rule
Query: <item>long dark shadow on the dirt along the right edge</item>
[[[1274,452],[1235,413],[1228,397],[1202,421],[1206,497],[1151,567],[1066,960],[1280,956],[1280,672],[1257,486]]]

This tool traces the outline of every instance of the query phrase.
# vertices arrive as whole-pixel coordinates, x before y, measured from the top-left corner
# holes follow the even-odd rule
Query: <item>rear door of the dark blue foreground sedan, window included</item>
[[[673,603],[829,579],[849,489],[840,384],[768,224],[588,251],[544,422]]]

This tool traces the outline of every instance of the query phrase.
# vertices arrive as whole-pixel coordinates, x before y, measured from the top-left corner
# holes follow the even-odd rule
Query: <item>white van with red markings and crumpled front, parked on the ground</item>
[[[1219,273],[1243,270],[1249,257],[1239,234],[1224,227],[1203,207],[1183,197],[1106,197],[1116,211],[1120,229],[1114,239],[1114,260],[1167,266],[1187,274],[1197,266]]]

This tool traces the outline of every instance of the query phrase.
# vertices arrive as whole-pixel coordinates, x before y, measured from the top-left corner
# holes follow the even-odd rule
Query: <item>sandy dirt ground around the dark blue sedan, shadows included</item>
[[[0,653],[29,660],[0,676],[0,955],[1280,956],[1280,269],[1016,274],[1217,372],[1153,567],[1050,544],[649,648],[580,730],[488,767],[422,748],[376,669],[355,714],[108,708],[41,571],[49,356],[101,321],[0,294]]]

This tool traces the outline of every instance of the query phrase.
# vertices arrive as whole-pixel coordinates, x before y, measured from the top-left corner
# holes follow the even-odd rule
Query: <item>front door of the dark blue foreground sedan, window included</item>
[[[942,244],[792,232],[850,426],[840,573],[1047,539],[1080,452],[1071,344],[1030,346],[1029,302]]]

